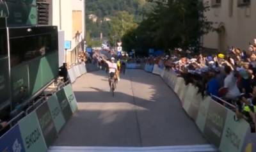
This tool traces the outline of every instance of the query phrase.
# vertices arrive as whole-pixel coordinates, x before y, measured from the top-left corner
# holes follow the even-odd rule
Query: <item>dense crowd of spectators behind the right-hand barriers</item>
[[[230,48],[225,54],[204,56],[175,49],[172,56],[162,57],[166,68],[172,68],[179,77],[198,87],[202,96],[226,101],[226,107],[236,107],[236,118],[249,121],[255,132],[256,123],[256,39],[247,50]],[[154,58],[156,61],[156,58]],[[152,63],[152,58],[148,58]],[[232,106],[233,107],[233,106]],[[232,109],[232,107],[229,107]]]

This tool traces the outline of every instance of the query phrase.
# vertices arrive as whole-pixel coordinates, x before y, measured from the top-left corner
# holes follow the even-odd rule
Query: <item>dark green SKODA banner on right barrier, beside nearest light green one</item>
[[[210,102],[204,127],[204,135],[216,147],[220,147],[221,137],[227,118],[227,109],[217,102]]]

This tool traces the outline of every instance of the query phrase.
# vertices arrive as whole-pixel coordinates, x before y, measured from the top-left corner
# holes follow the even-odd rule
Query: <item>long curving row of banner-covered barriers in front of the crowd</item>
[[[145,65],[147,67],[149,65]],[[147,71],[147,70],[145,70]],[[188,116],[195,121],[205,138],[223,152],[256,151],[256,133],[251,133],[250,125],[244,119],[234,120],[236,107],[217,96],[202,98],[198,88],[185,85],[182,77],[173,70],[161,69],[154,65],[152,73],[160,75],[172,87]],[[216,102],[217,99],[224,105]]]

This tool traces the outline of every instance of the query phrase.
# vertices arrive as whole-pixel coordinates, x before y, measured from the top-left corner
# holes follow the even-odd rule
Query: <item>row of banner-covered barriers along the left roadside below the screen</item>
[[[40,98],[8,122],[12,128],[0,137],[0,151],[46,152],[76,111],[77,102],[71,84],[49,98]],[[18,122],[12,124],[15,121]]]

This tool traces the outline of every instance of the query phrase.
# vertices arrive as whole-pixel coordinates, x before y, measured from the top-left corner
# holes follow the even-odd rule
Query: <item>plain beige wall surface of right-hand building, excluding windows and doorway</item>
[[[204,0],[207,2],[209,0]],[[251,1],[249,7],[238,7],[237,0],[233,0],[233,15],[229,15],[230,1],[222,0],[221,6],[211,7],[205,16],[212,21],[214,27],[221,24],[225,26],[227,46],[235,46],[240,49],[247,49],[248,43],[256,37],[256,1]],[[211,1],[209,1],[211,4]],[[218,34],[211,32],[204,36],[204,47],[218,49]]]

